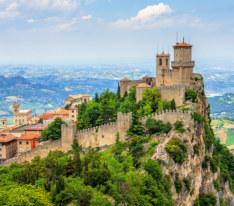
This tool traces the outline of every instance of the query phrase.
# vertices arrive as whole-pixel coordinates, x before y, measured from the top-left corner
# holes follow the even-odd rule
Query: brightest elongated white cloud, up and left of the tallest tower
[[[120,19],[113,23],[117,28],[136,28],[141,27],[144,24],[155,21],[165,14],[172,12],[169,5],[164,3],[159,3],[155,5],[150,5],[144,9],[138,11],[136,16],[130,17],[128,19]]]

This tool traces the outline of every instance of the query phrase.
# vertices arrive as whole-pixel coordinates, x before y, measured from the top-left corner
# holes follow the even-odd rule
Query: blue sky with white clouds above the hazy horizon
[[[194,59],[234,60],[233,0],[0,0],[0,64],[154,61],[176,34]]]

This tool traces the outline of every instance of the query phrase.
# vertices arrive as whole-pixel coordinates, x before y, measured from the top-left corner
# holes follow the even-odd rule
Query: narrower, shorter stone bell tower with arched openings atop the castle
[[[170,73],[170,55],[162,52],[157,54],[156,57],[156,74],[157,81],[156,86],[160,87],[161,85],[167,84],[168,75]],[[167,76],[167,77],[166,77]]]

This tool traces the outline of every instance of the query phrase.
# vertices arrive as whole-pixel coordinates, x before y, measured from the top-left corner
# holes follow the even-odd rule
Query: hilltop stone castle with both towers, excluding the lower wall
[[[136,99],[140,101],[145,89],[157,87],[162,99],[175,100],[177,106],[184,103],[186,88],[192,84],[193,68],[192,44],[176,43],[174,46],[174,61],[170,54],[162,52],[156,56],[156,77],[144,77],[140,80],[124,78],[120,81],[120,94],[123,97],[128,90],[136,86]]]

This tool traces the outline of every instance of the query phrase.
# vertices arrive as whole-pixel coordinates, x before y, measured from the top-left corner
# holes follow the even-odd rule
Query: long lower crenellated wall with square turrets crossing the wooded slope
[[[117,133],[119,138],[124,141],[127,138],[126,132],[132,123],[132,114],[118,113],[117,121],[109,124],[101,125],[94,128],[76,131],[76,125],[64,124],[62,126],[62,138],[57,141],[45,142],[35,149],[22,153],[19,156],[7,160],[4,165],[11,163],[22,163],[24,161],[31,161],[33,158],[40,156],[46,157],[50,151],[69,151],[74,139],[83,149],[88,148],[105,148],[115,144]],[[148,118],[155,120],[162,120],[174,124],[176,121],[183,121],[184,125],[190,127],[193,123],[191,113],[181,111],[164,111],[162,113],[154,113],[150,116],[141,119],[145,123]]]

